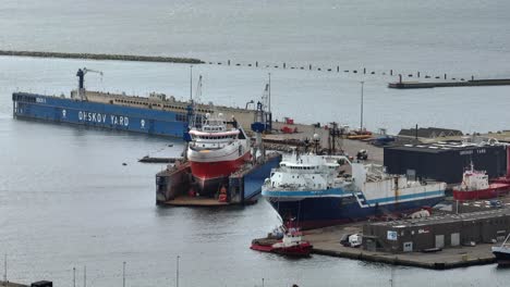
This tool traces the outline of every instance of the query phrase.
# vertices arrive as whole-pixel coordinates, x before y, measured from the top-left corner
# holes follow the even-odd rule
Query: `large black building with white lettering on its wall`
[[[471,162],[475,170],[486,171],[489,178],[502,176],[507,169],[506,146],[448,141],[386,147],[384,150],[384,165],[388,173],[447,184],[461,183],[462,174]]]

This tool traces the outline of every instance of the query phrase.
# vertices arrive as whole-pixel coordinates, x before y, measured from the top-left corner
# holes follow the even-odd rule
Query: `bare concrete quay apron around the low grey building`
[[[489,244],[479,244],[473,247],[445,248],[438,252],[423,253],[387,253],[367,251],[361,248],[344,247],[340,239],[344,234],[362,232],[363,223],[344,226],[333,226],[305,232],[304,239],[314,248],[312,253],[338,258],[348,258],[369,262],[380,262],[393,265],[404,265],[430,270],[447,270],[471,265],[493,264],[496,262],[490,252]]]

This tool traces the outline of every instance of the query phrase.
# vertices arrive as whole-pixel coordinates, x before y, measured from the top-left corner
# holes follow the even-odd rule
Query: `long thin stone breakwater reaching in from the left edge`
[[[138,62],[163,62],[183,64],[203,64],[202,60],[193,58],[159,57],[159,55],[133,55],[133,54],[106,54],[106,53],[64,53],[44,51],[10,51],[0,50],[0,55],[37,57],[37,58],[62,58],[62,59],[87,59],[87,60],[112,60],[112,61],[138,61]]]

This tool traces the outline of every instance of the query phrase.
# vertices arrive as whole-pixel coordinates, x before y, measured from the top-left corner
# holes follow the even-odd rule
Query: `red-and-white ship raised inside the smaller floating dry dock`
[[[250,139],[235,120],[228,127],[223,114],[206,114],[199,128],[189,133],[187,160],[201,196],[214,196],[228,185],[228,177],[252,158]]]

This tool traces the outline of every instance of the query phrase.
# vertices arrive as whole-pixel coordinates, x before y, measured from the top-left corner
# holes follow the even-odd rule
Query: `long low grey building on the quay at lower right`
[[[363,226],[363,248],[392,253],[427,251],[502,241],[509,232],[508,209],[367,223]]]

